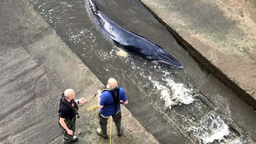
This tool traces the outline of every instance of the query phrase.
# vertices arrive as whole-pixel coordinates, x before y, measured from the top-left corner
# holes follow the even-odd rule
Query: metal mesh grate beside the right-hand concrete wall
[[[198,89],[256,141],[256,112],[253,108],[214,76],[205,79]]]

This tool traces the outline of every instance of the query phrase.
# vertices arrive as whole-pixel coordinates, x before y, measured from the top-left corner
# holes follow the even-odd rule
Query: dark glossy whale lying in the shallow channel
[[[95,1],[87,0],[86,5],[93,21],[116,46],[158,65],[183,68],[183,65],[177,58],[158,44],[110,20],[98,9]]]

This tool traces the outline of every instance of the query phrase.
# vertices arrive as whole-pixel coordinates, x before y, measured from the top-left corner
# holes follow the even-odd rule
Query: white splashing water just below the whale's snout
[[[154,87],[160,92],[160,99],[164,100],[165,109],[171,109],[171,106],[190,104],[194,101],[192,96],[193,89],[187,89],[183,83],[175,83],[171,78],[162,79],[167,82],[166,86],[160,84],[159,81],[152,80],[151,77],[148,79],[153,83]]]

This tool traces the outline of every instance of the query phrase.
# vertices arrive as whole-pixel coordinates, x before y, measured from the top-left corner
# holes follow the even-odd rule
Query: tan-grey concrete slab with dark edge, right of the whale
[[[253,108],[256,100],[256,3],[252,0],[141,0],[199,61]],[[188,46],[190,45],[190,46]],[[193,50],[191,50],[193,49]],[[195,52],[196,51],[196,52]],[[206,66],[207,67],[207,66]],[[233,83],[235,86],[232,86]]]

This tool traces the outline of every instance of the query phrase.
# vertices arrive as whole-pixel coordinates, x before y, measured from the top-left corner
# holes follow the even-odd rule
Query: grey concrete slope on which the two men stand
[[[76,143],[108,143],[95,132],[98,109],[86,110],[97,104],[94,96],[104,85],[33,6],[26,0],[1,1],[0,26],[0,143],[61,142],[58,106],[67,88],[89,101],[79,109]],[[113,142],[158,143],[124,106],[122,113],[124,133],[117,137],[113,125]]]

